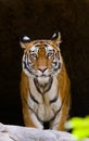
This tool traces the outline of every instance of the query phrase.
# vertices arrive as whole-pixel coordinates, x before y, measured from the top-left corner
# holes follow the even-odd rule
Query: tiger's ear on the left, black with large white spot
[[[28,47],[28,43],[30,42],[30,38],[27,36],[21,36],[20,37],[20,44],[23,49]]]

